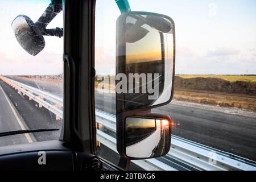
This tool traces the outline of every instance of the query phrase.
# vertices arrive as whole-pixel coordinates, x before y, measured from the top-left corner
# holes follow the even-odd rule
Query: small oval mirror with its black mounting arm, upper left
[[[51,0],[35,23],[26,15],[18,15],[11,23],[15,38],[30,55],[37,55],[46,46],[43,35],[58,36],[59,38],[63,36],[63,28],[46,29],[49,22],[62,11],[62,3],[62,0]]]

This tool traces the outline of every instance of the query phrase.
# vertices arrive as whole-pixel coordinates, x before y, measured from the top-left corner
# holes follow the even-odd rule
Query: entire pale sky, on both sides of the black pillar
[[[170,16],[176,27],[176,74],[256,74],[255,0],[130,0],[132,11]],[[0,75],[52,75],[62,72],[63,38],[46,37],[36,56],[19,46],[11,22],[19,14],[34,22],[44,0],[0,1]],[[115,70],[115,26],[120,15],[114,0],[96,2],[97,74]],[[63,27],[60,13],[48,28]]]

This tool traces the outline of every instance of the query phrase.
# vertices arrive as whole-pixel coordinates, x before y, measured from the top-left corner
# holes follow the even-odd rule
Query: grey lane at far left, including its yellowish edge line
[[[6,131],[15,131],[26,129],[21,121],[18,113],[11,104],[8,96],[0,86],[0,133]],[[0,138],[0,146],[12,144],[24,144],[32,142],[32,138],[28,134],[11,135]]]

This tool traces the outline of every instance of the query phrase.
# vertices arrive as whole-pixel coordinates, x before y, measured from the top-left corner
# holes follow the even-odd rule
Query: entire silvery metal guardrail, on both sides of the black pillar
[[[0,76],[0,79],[12,86],[18,92],[27,95],[39,105],[56,114],[56,118],[62,118],[63,100],[53,94],[36,89]],[[96,110],[96,122],[115,134],[115,115]],[[102,128],[102,127],[99,127]],[[116,139],[111,135],[97,129],[97,140],[106,147],[117,152]],[[197,169],[197,170],[256,170],[256,164],[250,160],[234,156],[223,151],[203,146],[190,140],[172,135],[170,152],[158,159],[133,160],[134,164],[146,170]]]

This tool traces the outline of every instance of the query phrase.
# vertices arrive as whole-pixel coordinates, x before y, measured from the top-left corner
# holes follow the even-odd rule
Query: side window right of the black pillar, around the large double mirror
[[[255,163],[255,11],[249,6],[255,3],[246,2],[129,1],[132,11],[166,14],[176,26],[174,99],[153,109],[171,115],[172,147],[167,156],[156,160],[174,167],[175,141],[183,141],[207,148],[207,158],[223,154]],[[119,159],[115,148],[115,28],[120,14],[115,1],[96,2],[97,148],[100,156],[115,164]],[[146,44],[146,38],[140,43]],[[127,46],[132,49],[132,44]],[[130,57],[130,61],[130,69],[139,67],[137,60]],[[131,169],[144,169],[139,162],[132,164]]]

